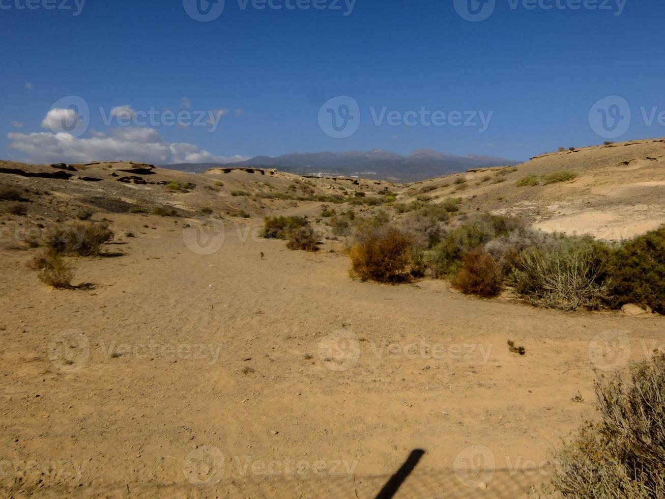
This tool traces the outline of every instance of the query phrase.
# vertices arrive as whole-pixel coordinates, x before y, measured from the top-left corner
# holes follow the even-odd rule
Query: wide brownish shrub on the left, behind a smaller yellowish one
[[[113,239],[106,224],[71,224],[55,228],[47,236],[47,247],[55,253],[98,255],[102,244]]]

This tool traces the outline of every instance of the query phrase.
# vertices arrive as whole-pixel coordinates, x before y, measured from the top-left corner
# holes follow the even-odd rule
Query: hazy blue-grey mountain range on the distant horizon
[[[465,172],[469,168],[514,165],[517,161],[491,156],[455,156],[442,152],[420,149],[408,156],[375,149],[350,152],[292,152],[283,156],[255,156],[247,161],[227,163],[224,166],[255,166],[275,168],[281,172],[299,175],[357,176],[393,182],[416,182],[432,177]],[[216,163],[168,164],[164,168],[200,173],[209,168],[219,168]]]

